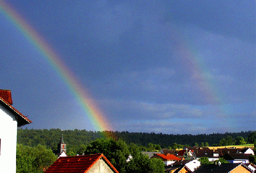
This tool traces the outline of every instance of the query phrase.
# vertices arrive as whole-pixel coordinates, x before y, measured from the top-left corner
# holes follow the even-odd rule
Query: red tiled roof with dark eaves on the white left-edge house
[[[5,100],[7,99],[7,100]],[[7,110],[12,112],[17,119],[17,127],[24,126],[26,124],[32,123],[26,116],[22,115],[18,110],[11,106],[12,99],[11,99],[11,91],[10,90],[3,90],[0,89],[0,104],[3,105]]]

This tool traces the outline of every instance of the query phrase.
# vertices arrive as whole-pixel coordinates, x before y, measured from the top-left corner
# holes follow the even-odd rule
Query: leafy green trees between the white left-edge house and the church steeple
[[[29,147],[17,144],[16,172],[43,173],[56,159],[52,150],[43,145]]]

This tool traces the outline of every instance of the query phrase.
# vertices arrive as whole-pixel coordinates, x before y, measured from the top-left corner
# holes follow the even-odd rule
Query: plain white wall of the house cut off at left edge
[[[0,173],[16,173],[17,121],[0,105]]]

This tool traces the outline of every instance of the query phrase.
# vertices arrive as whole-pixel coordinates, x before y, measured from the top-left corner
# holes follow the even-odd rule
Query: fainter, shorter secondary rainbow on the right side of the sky
[[[223,100],[218,92],[218,88],[211,79],[206,65],[195,48],[189,43],[189,40],[181,33],[169,26],[171,39],[176,43],[178,57],[180,57],[183,67],[189,73],[191,78],[195,80],[194,85],[198,92],[204,97],[205,105],[214,105],[217,116],[222,117],[227,114],[223,106]]]

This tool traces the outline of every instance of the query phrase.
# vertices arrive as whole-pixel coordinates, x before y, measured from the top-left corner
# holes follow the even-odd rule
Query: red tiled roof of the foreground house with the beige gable
[[[45,173],[87,173],[99,159],[103,159],[114,173],[119,173],[103,154],[60,157]]]

